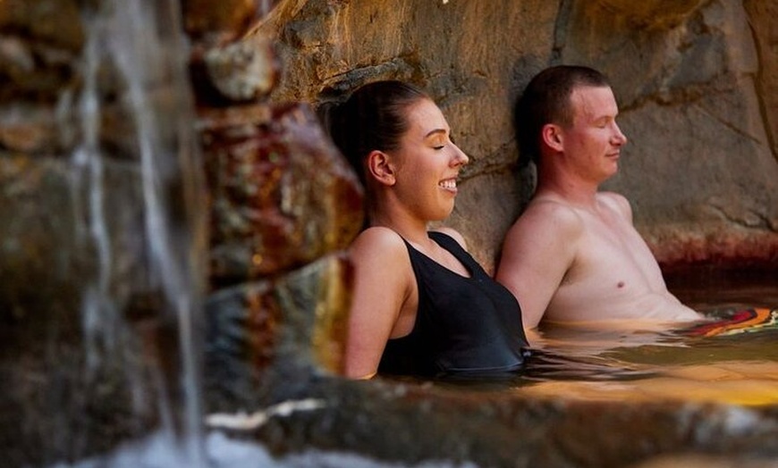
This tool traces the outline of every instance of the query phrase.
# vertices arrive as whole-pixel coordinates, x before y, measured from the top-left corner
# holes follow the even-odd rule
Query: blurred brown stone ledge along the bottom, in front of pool
[[[415,466],[447,460],[483,467],[621,467],[659,455],[778,456],[775,409],[679,400],[568,402],[520,389],[462,391],[386,381],[313,382],[320,407],[235,430],[276,453],[305,447]],[[293,396],[290,401],[295,401]],[[618,429],[617,429],[618,428]]]

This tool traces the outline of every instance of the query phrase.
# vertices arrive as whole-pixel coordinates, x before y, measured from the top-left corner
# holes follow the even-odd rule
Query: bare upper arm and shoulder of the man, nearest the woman
[[[521,305],[525,329],[533,329],[575,259],[582,232],[579,215],[554,202],[529,205],[503,243],[495,276]]]

